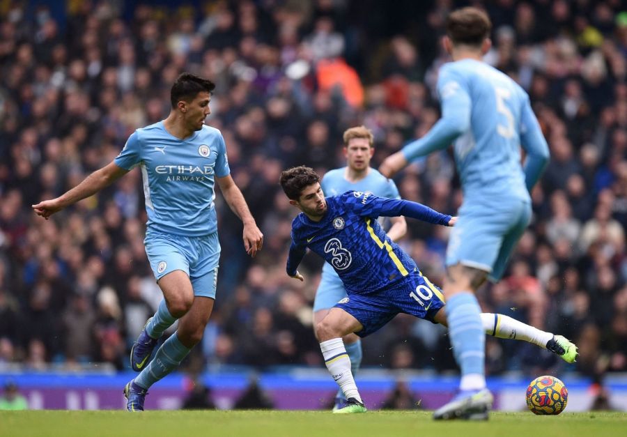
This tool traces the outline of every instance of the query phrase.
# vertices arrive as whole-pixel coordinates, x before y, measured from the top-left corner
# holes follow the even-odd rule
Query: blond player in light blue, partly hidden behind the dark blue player
[[[329,195],[342,194],[347,191],[369,192],[378,197],[400,199],[398,189],[392,179],[385,178],[370,167],[370,160],[374,154],[372,132],[364,126],[350,128],[344,132],[344,156],[346,167],[328,171],[320,182],[323,192]],[[405,236],[407,222],[404,217],[392,217],[391,227],[387,236],[392,241],[398,241]],[[314,326],[322,321],[334,305],[346,298],[344,284],[330,264],[323,266],[320,285],[314,300]],[[362,362],[362,342],[353,333],[343,337],[346,353],[350,359],[350,370],[353,376],[357,373]],[[334,410],[346,406],[346,397],[339,390],[335,399]]]

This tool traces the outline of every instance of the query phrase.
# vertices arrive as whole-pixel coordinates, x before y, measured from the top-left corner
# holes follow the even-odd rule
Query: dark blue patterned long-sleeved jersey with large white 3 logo
[[[416,202],[349,191],[327,197],[319,222],[300,213],[292,222],[287,273],[294,276],[307,247],[335,269],[350,293],[376,293],[405,280],[416,263],[381,229],[377,218],[406,217],[447,225],[450,215]]]

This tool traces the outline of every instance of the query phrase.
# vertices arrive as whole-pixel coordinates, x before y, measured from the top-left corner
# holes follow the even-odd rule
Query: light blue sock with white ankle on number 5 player
[[[461,390],[486,387],[486,333],[481,323],[481,308],[474,294],[458,293],[447,300],[449,337],[455,360],[461,369]]]

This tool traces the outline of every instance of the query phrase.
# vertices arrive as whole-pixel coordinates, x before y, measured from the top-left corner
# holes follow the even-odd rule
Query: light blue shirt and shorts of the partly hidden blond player
[[[346,179],[346,171],[347,167],[327,171],[322,181],[320,181],[320,187],[322,187],[325,196],[336,196],[347,191],[357,191],[370,192],[376,196],[387,197],[388,199],[401,199],[394,181],[386,178],[376,169],[369,169],[365,178],[354,183]],[[330,309],[343,298],[346,298],[346,290],[341,279],[332,266],[329,263],[325,263],[320,285],[318,285],[318,291],[316,291],[314,312],[321,309]]]

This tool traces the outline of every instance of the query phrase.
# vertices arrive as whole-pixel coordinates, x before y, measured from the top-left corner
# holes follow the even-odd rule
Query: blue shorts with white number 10
[[[444,307],[444,296],[426,276],[416,271],[410,273],[403,284],[368,295],[351,293],[335,307],[343,309],[362,323],[364,328],[355,334],[366,337],[398,313],[411,314],[435,323],[433,317]]]

